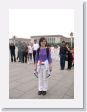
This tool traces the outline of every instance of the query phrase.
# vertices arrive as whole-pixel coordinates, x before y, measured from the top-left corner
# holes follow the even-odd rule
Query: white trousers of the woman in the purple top
[[[48,79],[47,79],[47,68],[45,65],[38,66],[38,90],[47,91]]]

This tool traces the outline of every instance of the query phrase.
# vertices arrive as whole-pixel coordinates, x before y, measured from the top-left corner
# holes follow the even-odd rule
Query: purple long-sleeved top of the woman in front
[[[49,50],[48,57],[47,57],[46,48],[40,49],[40,51],[39,51],[39,57],[38,57],[38,54],[36,52],[35,63],[37,63],[38,60],[39,61],[43,61],[43,62],[46,61],[46,60],[48,60],[49,64],[52,63],[50,50]]]

